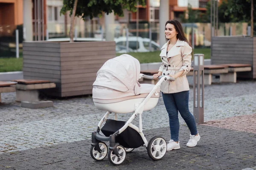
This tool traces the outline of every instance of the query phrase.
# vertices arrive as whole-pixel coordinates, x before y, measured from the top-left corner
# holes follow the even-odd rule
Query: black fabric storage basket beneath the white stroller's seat
[[[105,125],[102,127],[102,133],[105,136],[110,136],[125,125],[124,121],[117,121],[107,119]],[[127,127],[122,133],[116,136],[116,142],[126,148],[137,148],[144,144],[143,139],[136,130]]]

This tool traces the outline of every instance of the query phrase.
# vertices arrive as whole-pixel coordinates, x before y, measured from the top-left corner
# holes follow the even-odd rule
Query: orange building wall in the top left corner
[[[0,25],[20,25],[23,23],[23,0],[0,0]]]

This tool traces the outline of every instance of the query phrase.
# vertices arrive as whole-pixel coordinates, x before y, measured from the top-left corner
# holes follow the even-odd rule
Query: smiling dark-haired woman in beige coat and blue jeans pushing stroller
[[[195,119],[189,111],[189,83],[186,74],[191,69],[192,47],[185,37],[181,23],[169,20],[165,25],[165,36],[168,40],[161,48],[160,58],[162,64],[154,79],[159,76],[175,78],[173,82],[163,82],[160,90],[163,102],[169,115],[171,140],[167,150],[180,149],[178,112],[190,130],[190,139],[187,147],[195,147],[200,140]]]

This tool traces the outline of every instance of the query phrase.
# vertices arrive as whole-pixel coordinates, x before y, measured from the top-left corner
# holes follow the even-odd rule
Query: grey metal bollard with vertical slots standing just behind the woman
[[[204,54],[194,54],[193,66],[193,115],[195,122],[204,123]],[[200,79],[202,75],[202,79]],[[200,83],[201,80],[201,83]],[[202,89],[201,89],[201,88]],[[202,105],[200,106],[200,89],[202,91]],[[197,97],[196,97],[197,90]],[[197,102],[197,105],[195,105]]]

